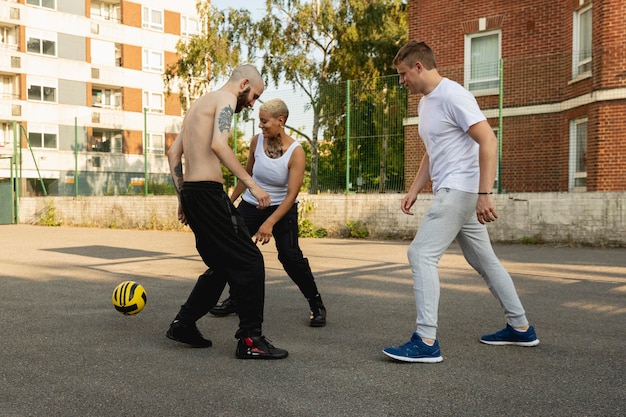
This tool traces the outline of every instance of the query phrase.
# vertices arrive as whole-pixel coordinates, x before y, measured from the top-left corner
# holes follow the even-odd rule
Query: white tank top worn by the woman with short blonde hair
[[[287,151],[279,158],[270,158],[263,149],[263,133],[259,134],[254,150],[254,166],[252,167],[252,179],[264,189],[269,195],[272,206],[277,206],[283,202],[287,196],[287,183],[289,182],[289,160],[293,150],[301,146],[298,142],[289,145]],[[252,195],[250,190],[241,197],[244,201],[258,205],[259,202]],[[296,199],[296,202],[298,200]]]

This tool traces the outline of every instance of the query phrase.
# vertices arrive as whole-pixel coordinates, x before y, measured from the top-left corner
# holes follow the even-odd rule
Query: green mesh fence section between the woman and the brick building
[[[289,107],[287,127],[307,152],[307,192],[404,191],[407,91],[397,75],[321,86],[317,107],[291,90],[266,92],[261,100],[276,97]]]

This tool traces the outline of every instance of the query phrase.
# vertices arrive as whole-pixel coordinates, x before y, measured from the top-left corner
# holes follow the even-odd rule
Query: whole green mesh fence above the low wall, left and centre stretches
[[[269,91],[254,109],[238,114],[230,144],[242,164],[250,139],[259,131],[260,104],[279,97],[290,109],[287,128],[307,153],[303,192],[403,191],[407,93],[399,88],[398,77],[323,85],[314,96],[312,103],[304,92]],[[151,129],[145,120],[144,115],[147,132]],[[164,149],[155,153],[145,133],[142,153],[126,154],[123,146],[108,152],[92,149],[87,131],[76,118],[73,126],[59,127],[55,150],[31,146],[31,134],[21,123],[14,124],[20,196],[174,194]],[[223,173],[225,188],[234,186],[232,174],[227,169]]]

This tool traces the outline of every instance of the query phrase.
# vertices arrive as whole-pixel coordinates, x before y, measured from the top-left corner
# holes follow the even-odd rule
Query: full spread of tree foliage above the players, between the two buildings
[[[196,97],[215,77],[227,75],[245,54],[247,61],[259,63],[267,83],[286,83],[302,92],[313,114],[311,134],[303,137],[310,145],[309,191],[315,193],[319,138],[327,148],[346,129],[342,124],[348,103],[345,90],[338,92],[337,86],[360,80],[355,84],[360,89],[350,92],[359,103],[356,108],[387,98],[377,90],[376,79],[395,73],[391,62],[408,34],[406,0],[266,0],[265,4],[266,14],[252,21],[245,9],[218,11],[200,2],[204,30],[178,45],[181,57],[167,69],[166,85],[177,85],[181,96]],[[181,98],[184,108],[189,100]]]

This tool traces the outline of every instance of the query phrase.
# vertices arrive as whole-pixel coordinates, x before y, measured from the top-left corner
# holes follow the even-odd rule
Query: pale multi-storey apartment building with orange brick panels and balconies
[[[182,114],[162,74],[198,32],[196,0],[0,0],[0,178],[20,195],[167,182]]]

